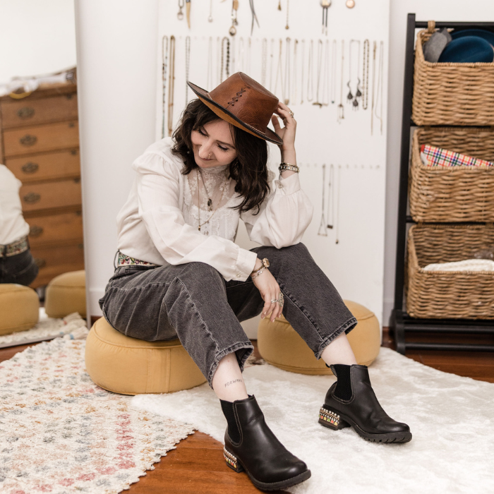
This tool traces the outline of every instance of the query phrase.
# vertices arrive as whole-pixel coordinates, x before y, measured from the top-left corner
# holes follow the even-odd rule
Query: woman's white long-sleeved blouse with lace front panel
[[[258,215],[231,209],[242,199],[234,193],[235,183],[229,179],[224,184],[226,194],[222,195],[227,200],[222,200],[212,215],[205,200],[199,212],[194,198],[197,184],[205,190],[203,183],[197,182],[195,170],[188,176],[181,174],[183,162],[171,153],[172,145],[171,138],[159,140],[133,162],[138,175],[116,218],[119,251],[157,265],[206,263],[227,281],[245,281],[257,255],[234,243],[239,219],[246,224],[250,239],[263,246],[282,248],[301,241],[313,207],[300,188],[299,174],[274,180],[275,174],[270,172],[271,193]],[[211,185],[218,180],[224,181],[222,168],[227,167],[211,169],[210,174],[202,169],[207,190],[212,191]],[[199,197],[205,199],[202,191]],[[201,223],[211,217],[200,231],[199,214]]]

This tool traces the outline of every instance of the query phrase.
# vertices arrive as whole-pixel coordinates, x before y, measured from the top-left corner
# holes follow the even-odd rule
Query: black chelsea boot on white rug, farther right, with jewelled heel
[[[394,421],[380,406],[370,385],[367,366],[336,364],[337,377],[319,411],[319,423],[331,429],[353,427],[362,438],[373,442],[409,442],[406,423]]]

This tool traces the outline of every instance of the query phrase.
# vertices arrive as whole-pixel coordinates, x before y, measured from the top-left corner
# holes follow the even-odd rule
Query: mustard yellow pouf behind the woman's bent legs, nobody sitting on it
[[[370,366],[379,354],[381,339],[378,318],[360,303],[345,300],[344,303],[358,321],[349,332],[348,340],[356,361]],[[273,366],[300,374],[332,374],[322,359],[315,358],[306,342],[285,318],[270,323],[261,319],[258,327],[259,353]]]

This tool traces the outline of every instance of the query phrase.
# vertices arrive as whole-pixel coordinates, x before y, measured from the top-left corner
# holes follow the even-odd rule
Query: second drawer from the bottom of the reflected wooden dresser
[[[49,215],[27,218],[30,227],[29,243],[31,248],[46,243],[75,241],[83,238],[82,212],[65,212],[61,215]]]

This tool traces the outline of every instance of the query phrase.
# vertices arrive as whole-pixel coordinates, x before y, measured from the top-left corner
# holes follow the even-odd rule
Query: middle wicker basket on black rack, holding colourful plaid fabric
[[[420,128],[412,140],[409,178],[416,222],[494,222],[494,167],[428,167],[422,144],[494,161],[494,129]]]

